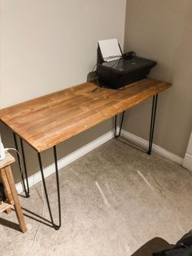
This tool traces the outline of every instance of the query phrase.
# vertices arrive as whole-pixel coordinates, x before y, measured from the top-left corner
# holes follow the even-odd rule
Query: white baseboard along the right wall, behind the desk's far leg
[[[146,139],[137,137],[136,135],[133,135],[126,130],[121,130],[121,135],[122,135],[122,137],[124,137],[124,139],[129,139],[130,142],[136,143],[138,146],[141,146],[143,148],[148,147],[149,143]],[[182,157],[179,157],[179,156],[173,154],[172,152],[168,152],[166,149],[160,148],[159,146],[157,146],[155,144],[153,144],[152,150],[153,150],[153,152],[156,152],[159,155],[166,157],[169,160],[174,161],[179,165],[182,165],[182,162],[183,162]]]

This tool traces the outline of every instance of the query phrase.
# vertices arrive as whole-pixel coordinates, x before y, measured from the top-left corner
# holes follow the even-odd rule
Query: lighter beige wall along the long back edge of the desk
[[[126,0],[2,0],[0,108],[85,82],[99,39],[118,38],[124,45],[125,5]],[[66,141],[59,158],[108,130],[111,121]],[[13,146],[11,130],[0,124],[0,132],[5,146]],[[32,174],[37,156],[26,149]],[[44,159],[46,165],[53,161],[50,152]]]

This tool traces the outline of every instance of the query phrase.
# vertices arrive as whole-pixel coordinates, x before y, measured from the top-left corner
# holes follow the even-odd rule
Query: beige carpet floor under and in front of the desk
[[[59,231],[41,223],[42,211],[50,218],[37,183],[28,199],[20,196],[28,232],[18,230],[14,210],[1,214],[1,255],[129,256],[155,237],[175,244],[192,228],[192,172],[155,153],[111,139],[60,170],[59,180]],[[57,223],[55,175],[46,183]]]

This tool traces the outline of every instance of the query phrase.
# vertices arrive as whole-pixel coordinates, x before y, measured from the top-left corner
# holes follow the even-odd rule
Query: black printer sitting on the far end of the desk
[[[103,61],[98,46],[97,75],[99,86],[118,89],[147,77],[156,65],[153,60],[139,58],[134,52],[122,55],[119,60]]]

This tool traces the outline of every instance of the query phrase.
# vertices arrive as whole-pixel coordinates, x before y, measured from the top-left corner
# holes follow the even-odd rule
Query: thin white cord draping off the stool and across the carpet
[[[19,152],[18,150],[16,150],[15,148],[5,148],[5,152],[7,152],[7,151],[9,151],[9,150],[14,150],[14,151],[17,152],[18,155],[20,156],[20,152]],[[23,168],[22,168],[22,166],[21,166],[21,162],[22,162],[22,158],[21,158],[21,156],[20,156],[20,178],[21,178],[21,175],[23,174],[23,171],[24,171]],[[35,188],[36,188],[36,186],[35,186]],[[37,190],[37,188],[36,188],[36,190]],[[38,191],[37,191],[37,193],[38,193],[38,195],[39,195],[39,192],[38,192]],[[33,246],[34,246],[34,243],[35,243],[35,241],[36,241],[37,234],[38,234],[38,232],[39,232],[39,230],[40,230],[40,227],[41,227],[41,224],[42,224],[42,218],[43,218],[44,209],[45,209],[45,198],[44,198],[44,193],[43,193],[42,182],[41,182],[41,195],[42,195],[42,196],[39,195],[40,198],[41,198],[41,201],[42,201],[41,223],[40,223],[39,227],[37,228],[37,232],[35,233],[35,236],[34,236],[34,238],[33,238],[33,244],[32,244],[32,246],[31,246],[31,248],[28,250],[27,256],[28,256],[29,254],[31,254],[31,252],[32,252],[32,250],[33,250]]]

